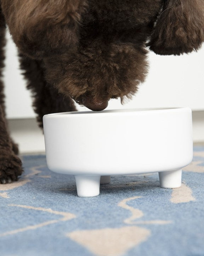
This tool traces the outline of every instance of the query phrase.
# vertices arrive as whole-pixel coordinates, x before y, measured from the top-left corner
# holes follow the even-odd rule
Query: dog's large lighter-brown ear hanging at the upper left
[[[20,52],[41,59],[78,43],[86,0],[1,0],[1,7]]]

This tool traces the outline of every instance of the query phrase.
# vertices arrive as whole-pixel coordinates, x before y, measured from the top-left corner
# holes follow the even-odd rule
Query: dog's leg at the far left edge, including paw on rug
[[[4,17],[0,9],[0,77],[5,59],[5,28]],[[0,183],[10,183],[17,180],[23,171],[21,160],[15,155],[18,149],[10,138],[5,116],[4,86],[0,80]]]

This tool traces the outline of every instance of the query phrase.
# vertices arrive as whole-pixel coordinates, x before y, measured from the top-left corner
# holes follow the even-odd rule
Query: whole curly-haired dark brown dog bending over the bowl
[[[147,74],[146,46],[157,54],[179,55],[199,49],[204,41],[203,0],[0,3],[0,68],[7,24],[40,127],[44,114],[76,111],[71,98],[95,111],[106,108],[110,98],[131,98]],[[17,154],[0,81],[0,183],[21,175]]]

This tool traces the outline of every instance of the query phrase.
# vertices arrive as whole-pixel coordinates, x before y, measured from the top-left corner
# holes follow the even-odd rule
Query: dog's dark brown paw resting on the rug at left
[[[23,172],[22,162],[16,155],[0,156],[0,183],[6,184],[18,180]]]

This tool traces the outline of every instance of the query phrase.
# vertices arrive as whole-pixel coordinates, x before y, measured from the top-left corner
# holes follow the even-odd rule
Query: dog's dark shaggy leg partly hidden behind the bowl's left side
[[[41,60],[34,60],[19,54],[21,69],[28,80],[27,88],[32,91],[33,107],[38,114],[37,121],[42,127],[42,117],[49,113],[77,111],[70,97],[65,97],[50,86],[44,79],[44,68]]]

